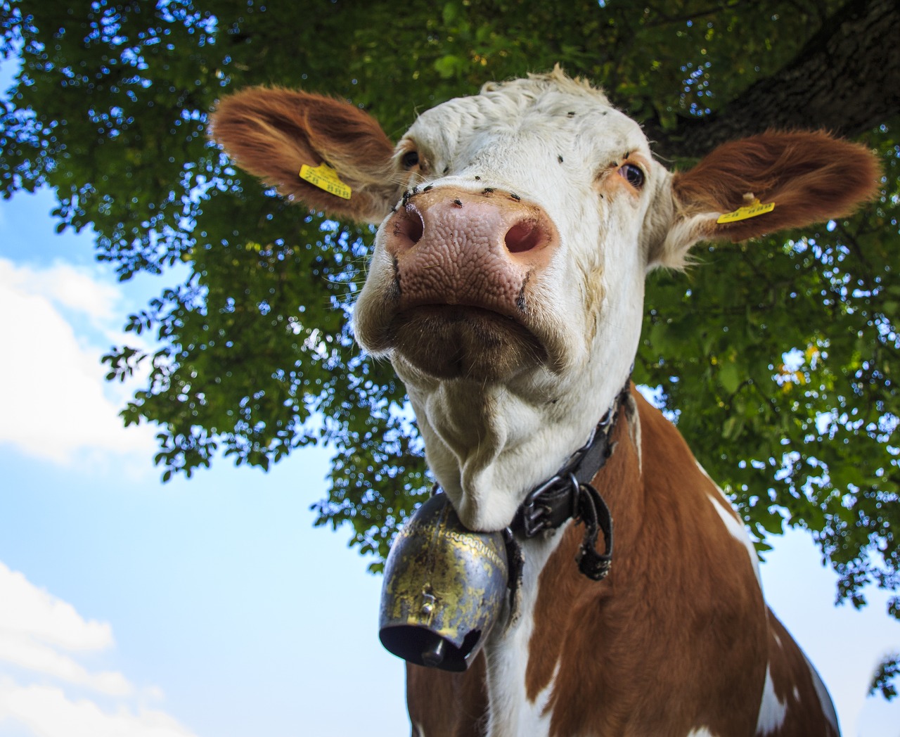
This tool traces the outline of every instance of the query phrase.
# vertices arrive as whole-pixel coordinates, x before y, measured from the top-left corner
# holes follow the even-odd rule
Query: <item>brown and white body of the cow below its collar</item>
[[[526,543],[529,594],[486,646],[489,678],[481,664],[408,666],[414,734],[837,733],[821,680],[763,601],[743,523],[671,423],[633,398],[594,481],[616,522],[608,578],[572,564],[577,526]]]

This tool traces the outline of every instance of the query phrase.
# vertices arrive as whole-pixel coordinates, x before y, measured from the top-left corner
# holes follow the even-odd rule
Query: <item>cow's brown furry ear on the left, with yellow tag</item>
[[[250,87],[220,101],[210,135],[250,174],[334,217],[380,222],[399,196],[391,141],[371,115],[330,97]]]

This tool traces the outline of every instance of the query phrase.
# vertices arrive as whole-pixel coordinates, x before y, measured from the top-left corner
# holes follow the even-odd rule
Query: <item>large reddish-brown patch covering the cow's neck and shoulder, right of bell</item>
[[[539,579],[527,696],[551,684],[559,662],[546,706],[553,735],[751,734],[767,647],[752,564],[678,431],[633,395],[643,474],[620,419],[594,480],[615,523],[612,571],[599,583],[579,574],[581,528],[570,526]]]

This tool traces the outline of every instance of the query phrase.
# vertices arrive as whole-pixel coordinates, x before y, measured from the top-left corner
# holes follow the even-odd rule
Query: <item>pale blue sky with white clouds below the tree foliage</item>
[[[163,484],[153,428],[117,416],[134,387],[105,382],[100,357],[172,283],[119,283],[90,232],[54,232],[54,203],[0,202],[0,737],[409,733],[381,581],[348,532],[312,527],[327,451]],[[900,699],[866,697],[900,651],[887,596],[834,607],[809,536],[774,543],[767,598],[843,733],[900,737]]]

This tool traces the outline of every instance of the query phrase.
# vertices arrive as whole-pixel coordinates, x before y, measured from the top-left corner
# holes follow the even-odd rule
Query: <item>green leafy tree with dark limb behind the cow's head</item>
[[[104,358],[111,379],[150,366],[125,422],[158,423],[164,478],[219,454],[265,468],[329,443],[319,523],[351,524],[374,568],[428,475],[401,385],[347,330],[371,230],[292,207],[230,166],[205,137],[221,94],[337,94],[397,137],[419,110],[559,62],[604,85],[676,165],[769,127],[878,148],[882,197],[858,216],[655,274],[635,381],[658,388],[761,549],[785,524],[805,527],[840,600],[863,606],[871,582],[896,591],[894,0],[70,5],[0,0],[0,49],[23,61],[0,183],[6,197],[54,188],[58,228],[93,225],[97,257],[122,279],[186,274],[128,318],[157,350]],[[900,616],[900,598],[888,607]],[[896,667],[881,671],[886,694]]]

